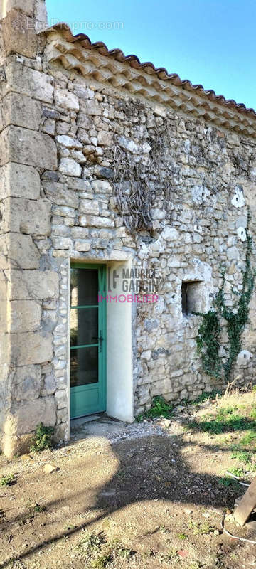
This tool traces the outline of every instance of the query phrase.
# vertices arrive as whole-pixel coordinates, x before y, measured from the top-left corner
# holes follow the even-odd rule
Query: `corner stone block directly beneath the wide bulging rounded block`
[[[36,200],[40,196],[40,176],[36,169],[9,162],[0,169],[0,199],[8,196]]]

